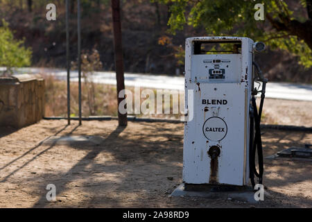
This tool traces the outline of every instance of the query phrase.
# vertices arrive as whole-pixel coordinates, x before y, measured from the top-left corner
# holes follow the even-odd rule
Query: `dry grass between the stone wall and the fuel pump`
[[[45,76],[46,83],[46,117],[67,117],[67,83],[60,80],[55,80],[53,76]],[[87,85],[82,83],[82,113],[83,116],[88,117],[90,115],[108,115],[117,116],[117,100],[116,100],[116,87],[113,85],[96,84],[94,85],[94,103],[92,107],[94,113],[89,109],[89,102],[87,96],[87,87],[90,87],[91,83]],[[133,101],[135,98],[134,87],[126,87],[132,92]],[[141,88],[141,92],[144,89]],[[155,96],[157,96],[156,89],[153,89]],[[141,104],[145,99],[140,100]],[[180,100],[179,100],[180,101]],[[170,118],[170,119],[180,119],[181,114],[172,114],[173,106],[179,105],[179,101],[173,104],[173,99],[171,96],[170,112],[171,114],[130,114],[136,117],[155,117],[155,118]],[[164,106],[164,100],[162,101]],[[182,99],[182,107],[184,107],[184,98]],[[135,102],[132,104],[133,111],[135,110]],[[157,108],[157,102],[155,99],[155,111]],[[180,111],[179,111],[180,112]],[[71,116],[78,116],[78,83],[71,83]]]

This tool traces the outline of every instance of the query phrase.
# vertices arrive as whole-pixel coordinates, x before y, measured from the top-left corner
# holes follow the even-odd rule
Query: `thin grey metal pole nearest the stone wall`
[[[67,60],[67,121],[71,124],[71,91],[70,91],[70,67],[69,67],[69,0],[66,0],[66,60]]]

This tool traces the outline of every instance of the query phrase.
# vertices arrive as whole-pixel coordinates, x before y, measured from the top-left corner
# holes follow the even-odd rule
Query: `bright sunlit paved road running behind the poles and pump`
[[[46,68],[22,68],[17,69],[16,74],[41,73],[53,75],[59,80],[67,79],[64,69]],[[114,72],[98,71],[93,76],[94,83],[116,85]],[[78,72],[71,71],[71,81],[78,81]],[[184,78],[178,76],[148,75],[148,74],[125,74],[126,86],[140,86],[154,89],[180,89],[184,90]],[[292,83],[268,83],[266,98],[290,99],[300,101],[312,101],[312,85],[300,85]]]

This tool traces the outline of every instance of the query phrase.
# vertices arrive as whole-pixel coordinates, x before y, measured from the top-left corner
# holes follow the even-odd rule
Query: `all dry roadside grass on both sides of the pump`
[[[55,80],[51,76],[46,76],[46,117],[66,117],[67,116],[67,85],[66,82]],[[82,84],[82,107],[83,116],[90,115],[117,115],[117,100],[116,87],[114,85],[94,84],[94,104],[92,105],[94,112],[89,108],[87,99],[88,85]],[[126,87],[135,95],[133,87]],[[141,91],[144,90],[141,88]],[[153,89],[155,96],[157,96],[156,89]],[[145,99],[141,99],[140,104]],[[184,98],[182,99],[184,107]],[[259,102],[259,99],[257,100]],[[162,101],[164,105],[164,100]],[[170,103],[171,114],[130,114],[136,117],[153,117],[166,119],[180,119],[182,114],[172,114],[173,107],[178,106],[180,101],[175,101],[173,104],[172,96]],[[134,107],[135,104],[132,104]],[[157,101],[155,99],[155,110]],[[134,110],[134,109],[133,109]],[[281,99],[266,99],[263,105],[263,114],[261,123],[265,124],[279,124],[279,125],[293,125],[293,126],[312,126],[311,117],[312,103],[309,101],[289,101]],[[180,113],[180,109],[179,109]],[[71,83],[71,116],[78,116],[78,83]]]

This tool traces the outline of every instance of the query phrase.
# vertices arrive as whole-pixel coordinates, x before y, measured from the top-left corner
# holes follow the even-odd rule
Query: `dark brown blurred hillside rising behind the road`
[[[10,23],[15,37],[25,38],[26,46],[33,49],[33,66],[65,67],[66,36],[64,3],[56,1],[57,19],[46,20],[46,3],[34,3],[32,11],[24,1],[4,1],[1,3],[1,18]],[[86,2],[86,1],[85,1]],[[167,32],[170,12],[168,6],[151,3],[148,0],[130,0],[122,3],[123,54],[125,71],[175,74],[184,65],[184,39],[191,36],[207,35],[201,28],[184,28],[184,31],[171,35]],[[96,22],[94,22],[96,21]],[[77,33],[76,7],[71,6],[70,36],[71,60],[76,60]],[[165,40],[168,44],[159,44]],[[168,42],[169,41],[169,42]],[[161,41],[160,41],[161,42]],[[109,1],[83,3],[82,49],[95,47],[103,62],[103,70],[114,70],[112,22]],[[271,51],[257,55],[263,72],[272,81],[311,83],[312,69],[304,69],[297,64],[297,58],[285,51]]]

